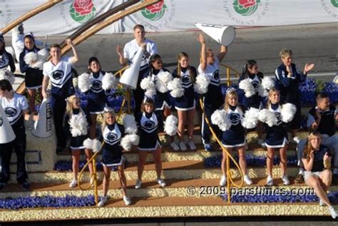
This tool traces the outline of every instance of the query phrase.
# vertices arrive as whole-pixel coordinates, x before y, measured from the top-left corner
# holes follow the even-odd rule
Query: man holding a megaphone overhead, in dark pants
[[[203,34],[198,36],[198,41],[201,44],[200,50],[200,66],[198,66],[198,73],[205,73],[210,78],[210,84],[208,86],[208,92],[203,97],[205,115],[210,118],[210,115],[220,106],[223,105],[223,96],[220,88],[220,61],[225,57],[227,53],[226,46],[220,46],[220,52],[217,57],[210,48],[206,48],[205,38]],[[220,133],[217,126],[212,127],[216,134]],[[202,142],[205,150],[211,151],[212,146],[210,145],[211,132],[208,125],[205,122],[204,115],[202,120]]]

